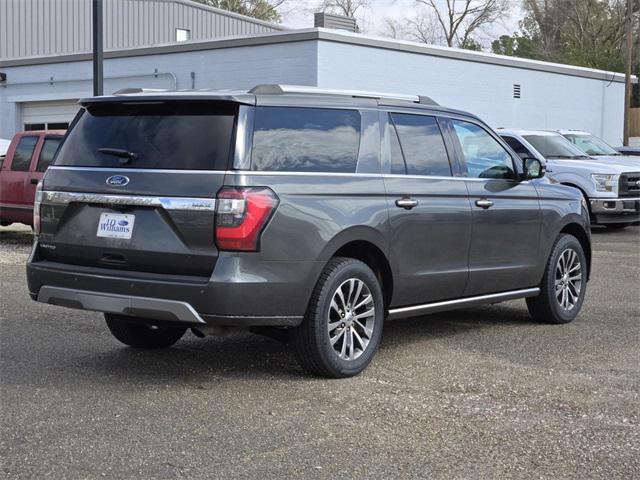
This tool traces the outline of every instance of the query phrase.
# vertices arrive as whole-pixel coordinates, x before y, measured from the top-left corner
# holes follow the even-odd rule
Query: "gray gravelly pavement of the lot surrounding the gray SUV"
[[[524,301],[389,322],[360,376],[238,334],[137,352],[32,302],[0,229],[3,478],[640,478],[640,229],[594,231],[580,317]]]

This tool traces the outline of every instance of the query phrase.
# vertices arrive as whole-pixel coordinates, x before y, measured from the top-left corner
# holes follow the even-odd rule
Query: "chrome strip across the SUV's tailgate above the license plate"
[[[160,207],[165,210],[214,212],[214,198],[147,197],[141,195],[108,195],[104,193],[43,191],[42,203],[67,205],[69,203],[98,203],[107,205],[131,205]]]

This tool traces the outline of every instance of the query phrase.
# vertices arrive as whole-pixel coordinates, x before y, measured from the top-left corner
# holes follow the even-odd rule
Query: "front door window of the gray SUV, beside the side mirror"
[[[468,177],[515,178],[511,155],[486,130],[461,120],[451,122],[462,147]]]

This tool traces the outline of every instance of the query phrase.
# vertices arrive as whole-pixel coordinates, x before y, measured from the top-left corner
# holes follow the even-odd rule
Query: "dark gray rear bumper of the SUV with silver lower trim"
[[[27,283],[34,300],[70,308],[193,325],[295,326],[302,322],[321,268],[316,262],[221,255],[211,278],[203,278],[32,258]]]

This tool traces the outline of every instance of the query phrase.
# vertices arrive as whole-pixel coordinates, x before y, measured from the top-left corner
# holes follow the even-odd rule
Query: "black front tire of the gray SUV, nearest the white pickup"
[[[556,277],[558,275],[558,269],[560,268],[558,264],[560,257],[565,254],[565,252],[571,250],[575,252],[580,262],[580,273],[582,276],[579,291],[576,291],[575,283],[572,283],[573,288],[571,288],[571,286],[567,284],[566,278],[562,278],[561,276],[561,278],[558,279],[560,281],[560,290],[564,288],[564,284],[567,284],[566,288],[569,291],[569,293],[566,294],[567,298],[573,299],[576,297],[571,309],[567,309],[561,305],[561,301],[564,298],[562,291],[556,294]],[[570,253],[566,255],[570,255]],[[587,289],[587,269],[587,259],[578,239],[573,235],[560,235],[551,249],[551,254],[547,260],[542,283],[540,284],[540,294],[537,297],[527,298],[527,308],[533,319],[538,322],[555,324],[573,321],[578,316],[582,308],[582,303],[584,302]],[[573,275],[575,275],[575,273]],[[577,295],[575,295],[576,293]],[[571,297],[569,297],[569,295],[571,295]]]

